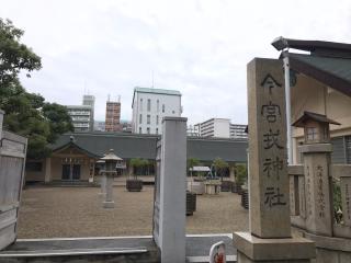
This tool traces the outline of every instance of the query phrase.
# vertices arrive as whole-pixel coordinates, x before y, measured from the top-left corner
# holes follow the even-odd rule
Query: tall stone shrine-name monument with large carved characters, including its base
[[[309,262],[315,247],[291,238],[283,64],[248,65],[250,233],[235,232],[238,263]]]

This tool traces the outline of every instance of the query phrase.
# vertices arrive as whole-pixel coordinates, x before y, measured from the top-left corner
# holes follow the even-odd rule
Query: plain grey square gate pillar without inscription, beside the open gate
[[[159,208],[161,262],[185,262],[186,118],[162,121]]]

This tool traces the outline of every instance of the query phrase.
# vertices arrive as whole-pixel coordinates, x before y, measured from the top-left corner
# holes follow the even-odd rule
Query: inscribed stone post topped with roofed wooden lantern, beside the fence
[[[329,124],[340,125],[326,115],[304,112],[293,126],[305,132],[305,142],[298,147],[304,155],[304,186],[306,193],[306,229],[312,233],[332,236],[333,208],[330,206],[330,144]]]

